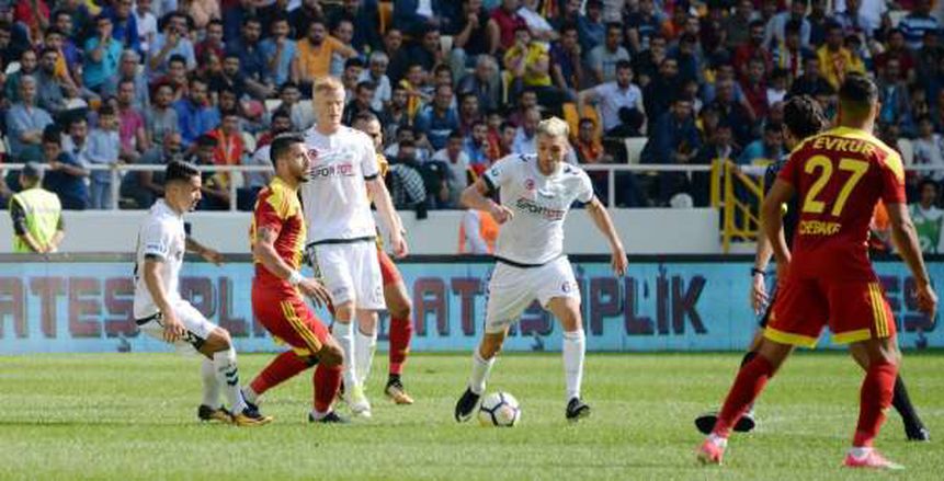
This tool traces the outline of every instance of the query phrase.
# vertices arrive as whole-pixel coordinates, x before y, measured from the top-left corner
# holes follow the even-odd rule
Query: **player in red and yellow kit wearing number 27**
[[[858,424],[844,465],[899,469],[873,448],[891,404],[900,353],[891,309],[868,260],[875,205],[888,209],[891,237],[917,284],[922,311],[933,321],[937,297],[930,285],[905,198],[899,154],[871,131],[878,89],[850,75],[839,92],[839,127],[804,140],[791,153],[762,208],[781,283],[758,355],[744,364],[698,459],[720,463],[731,427],[760,396],[794,346],[814,346],[829,325],[833,342],[867,359]],[[781,206],[794,196],[799,218],[793,251],[782,234]]]

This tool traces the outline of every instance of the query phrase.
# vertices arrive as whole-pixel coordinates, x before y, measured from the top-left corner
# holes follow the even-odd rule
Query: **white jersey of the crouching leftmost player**
[[[144,278],[145,259],[161,261],[159,273],[168,301],[180,300],[178,284],[183,254],[186,250],[186,232],[183,216],[173,211],[163,199],[158,199],[138,230],[137,255],[135,257],[135,319],[144,319],[158,312],[151,293]]]

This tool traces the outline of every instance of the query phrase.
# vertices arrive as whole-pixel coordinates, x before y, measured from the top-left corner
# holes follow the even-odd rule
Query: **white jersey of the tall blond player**
[[[350,127],[342,126],[330,136],[316,127],[305,131],[311,159],[311,180],[302,184],[307,243],[375,237],[364,183],[379,174],[374,144]]]

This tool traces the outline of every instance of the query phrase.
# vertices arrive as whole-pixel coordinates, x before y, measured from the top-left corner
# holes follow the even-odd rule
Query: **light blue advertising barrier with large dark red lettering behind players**
[[[0,354],[41,352],[169,351],[140,335],[132,318],[134,285],[126,255],[112,260],[0,262]],[[488,277],[482,260],[440,257],[400,263],[414,304],[412,348],[468,351],[482,331]],[[448,261],[448,262],[447,262]],[[652,257],[633,260],[629,275],[615,278],[604,257],[571,257],[583,294],[591,351],[740,351],[757,318],[748,306],[748,257]],[[944,263],[929,264],[932,279]],[[942,347],[944,334],[917,312],[913,280],[900,262],[876,270],[896,314],[905,347]],[[185,263],[184,298],[212,321],[229,329],[240,352],[278,350],[253,320],[252,265],[244,257],[217,267]],[[329,319],[326,312],[319,313]],[[382,322],[382,343],[386,340]],[[821,346],[831,346],[827,336]],[[383,344],[382,344],[383,347]],[[509,351],[560,347],[560,327],[533,305],[513,329]]]

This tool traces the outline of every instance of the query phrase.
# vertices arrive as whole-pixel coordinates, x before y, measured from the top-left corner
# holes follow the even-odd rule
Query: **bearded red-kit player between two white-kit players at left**
[[[243,397],[254,405],[263,392],[317,364],[314,410],[308,419],[344,422],[331,409],[341,383],[343,352],[302,297],[318,304],[331,301],[320,282],[298,272],[306,229],[298,186],[308,180],[308,152],[300,137],[281,136],[272,141],[270,157],[275,177],[259,193],[250,229],[255,266],[252,312],[276,342],[292,348],[276,356],[244,387]]]

